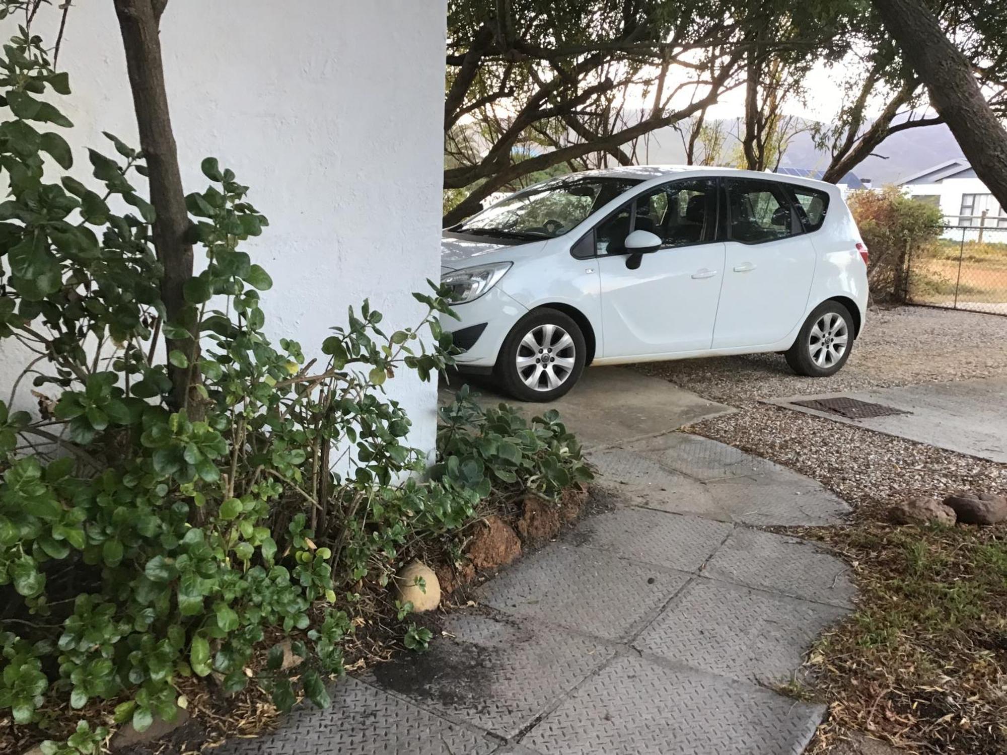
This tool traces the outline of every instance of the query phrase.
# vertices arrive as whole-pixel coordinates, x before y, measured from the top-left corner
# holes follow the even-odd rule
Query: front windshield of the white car
[[[553,239],[637,183],[611,176],[562,178],[519,191],[451,230],[505,239]]]

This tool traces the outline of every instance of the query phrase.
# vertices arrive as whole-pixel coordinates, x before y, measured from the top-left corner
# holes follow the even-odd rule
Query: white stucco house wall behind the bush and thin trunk
[[[42,6],[33,31],[51,43],[57,16]],[[0,24],[5,40],[13,31]],[[246,248],[273,277],[267,329],[309,358],[365,297],[390,330],[415,324],[410,293],[438,274],[444,34],[445,0],[168,3],[161,43],[185,190],[205,186],[207,155],[252,187],[271,223]],[[59,67],[77,172],[90,170],[85,145],[114,153],[102,131],[139,146],[112,0],[74,5]],[[2,356],[6,398],[20,360]],[[406,370],[386,385],[413,444],[431,448],[436,387]]]

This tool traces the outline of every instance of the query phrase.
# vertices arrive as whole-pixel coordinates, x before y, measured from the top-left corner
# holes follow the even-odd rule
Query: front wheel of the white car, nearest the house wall
[[[543,307],[511,328],[496,357],[496,380],[519,401],[549,402],[580,380],[586,357],[584,334],[573,318]]]

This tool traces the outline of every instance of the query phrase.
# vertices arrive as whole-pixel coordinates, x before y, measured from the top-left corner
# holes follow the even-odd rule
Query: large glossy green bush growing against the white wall
[[[4,52],[0,338],[34,352],[12,397],[33,376],[40,417],[0,403],[0,711],[24,725],[60,701],[122,701],[115,720],[142,731],[176,716],[181,676],[246,687],[273,631],[295,636],[303,692],[324,704],[321,676],[340,669],[350,630],[336,591],[384,583],[403,544],[457,527],[478,502],[416,478],[425,454],[381,388],[450,362],[437,316],[451,312],[419,294],[418,324],[386,333],[365,302],[321,344],[323,364],[295,341],[277,347],[259,294],[272,282],[240,249],[268,222],[208,158],[211,185],[186,197],[207,264],[184,286],[184,316],[165,321],[154,208],[132,183],[143,155],[107,135],[118,157],[89,151],[95,184],[47,182],[73,154],[45,129],[70,122],[39,96],[68,94],[68,80],[27,29]],[[200,347],[158,359],[158,331]],[[168,363],[188,369],[182,406]],[[281,663],[274,646],[260,681],[289,708]],[[87,752],[85,734],[65,746]]]

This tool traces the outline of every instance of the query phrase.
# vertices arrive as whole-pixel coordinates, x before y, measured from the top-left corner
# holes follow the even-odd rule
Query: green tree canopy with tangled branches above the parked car
[[[997,6],[949,0],[936,17],[1002,113],[1007,9]],[[712,139],[756,170],[811,129],[835,181],[891,134],[942,122],[863,0],[449,0],[447,22],[445,224],[554,172],[638,162],[639,140],[668,126],[683,130],[690,161],[716,159],[702,148]],[[829,124],[787,117],[823,61],[835,63],[843,107]],[[733,90],[743,115],[737,144],[725,145],[706,116]]]

